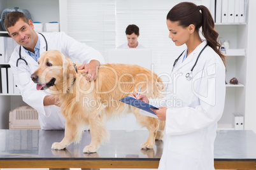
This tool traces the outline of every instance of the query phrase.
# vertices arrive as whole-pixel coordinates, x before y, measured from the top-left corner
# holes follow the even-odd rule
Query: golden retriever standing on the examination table
[[[151,70],[138,65],[108,63],[99,67],[96,81],[90,82],[82,70],[76,70],[81,64],[73,63],[60,51],[46,51],[38,63],[31,79],[38,90],[50,89],[59,99],[66,120],[64,138],[60,143],[53,143],[52,149],[62,150],[73,141],[79,142],[85,126],[90,126],[90,145],[83,152],[97,152],[99,145],[109,139],[106,121],[121,113],[132,112],[137,122],[148,129],[148,139],[141,148],[152,148],[155,140],[163,137],[165,122],[139,114],[138,108],[119,101],[138,91],[139,86],[141,93],[149,98],[162,97],[162,80]]]

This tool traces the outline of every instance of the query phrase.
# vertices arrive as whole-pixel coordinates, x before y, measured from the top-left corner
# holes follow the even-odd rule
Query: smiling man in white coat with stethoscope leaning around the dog
[[[45,90],[37,90],[31,80],[31,74],[38,69],[39,55],[46,50],[57,49],[68,58],[72,56],[78,59],[84,64],[77,69],[84,69],[83,75],[87,74],[85,76],[89,81],[96,80],[97,68],[104,63],[103,56],[64,32],[36,33],[32,21],[18,11],[6,16],[4,27],[19,44],[9,63],[23,100],[38,111],[41,129],[64,129],[64,117],[60,114],[55,98],[50,98],[50,93]]]

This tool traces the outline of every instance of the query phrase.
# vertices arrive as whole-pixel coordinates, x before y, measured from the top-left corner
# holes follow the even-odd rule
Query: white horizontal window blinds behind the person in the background
[[[202,4],[202,1],[192,1]],[[148,0],[68,0],[67,34],[102,53],[108,63],[108,50],[127,42],[129,24],[139,27],[138,42],[152,49],[153,70],[169,81],[174,60],[185,49],[169,39],[166,15],[181,1]],[[61,1],[60,1],[61,3]],[[60,13],[61,15],[61,13]],[[136,64],[136,61],[134,61]]]

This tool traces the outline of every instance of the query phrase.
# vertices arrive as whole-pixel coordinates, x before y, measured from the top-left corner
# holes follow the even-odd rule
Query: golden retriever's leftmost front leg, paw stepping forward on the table
[[[78,127],[77,124],[71,123],[71,121],[66,119],[64,138],[60,142],[53,143],[52,149],[62,150],[68,147],[68,145],[72,143],[76,138],[77,129],[78,129],[77,127]]]

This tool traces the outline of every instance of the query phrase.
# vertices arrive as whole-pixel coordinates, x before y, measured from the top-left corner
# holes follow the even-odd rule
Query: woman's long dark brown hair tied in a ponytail
[[[178,22],[181,27],[188,27],[190,24],[195,25],[195,30],[199,32],[202,27],[203,36],[210,46],[225,64],[225,56],[220,52],[220,43],[218,43],[218,32],[214,29],[215,23],[210,11],[206,6],[197,6],[194,3],[183,2],[176,4],[166,17],[167,20]]]

